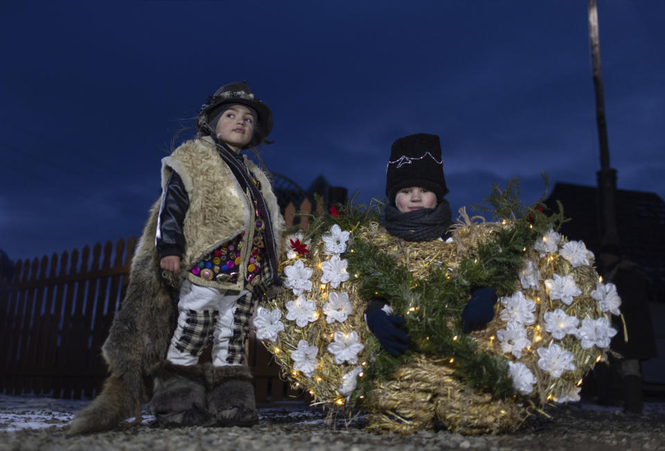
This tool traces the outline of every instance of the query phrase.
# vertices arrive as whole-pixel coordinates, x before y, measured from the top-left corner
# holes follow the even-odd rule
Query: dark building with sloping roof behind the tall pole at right
[[[568,239],[584,241],[594,253],[601,247],[597,191],[592,186],[557,183],[545,201],[550,210],[556,210],[556,201],[562,203],[571,221],[561,232]],[[656,300],[665,302],[665,202],[653,192],[617,190],[615,203],[623,253],[652,279]]]

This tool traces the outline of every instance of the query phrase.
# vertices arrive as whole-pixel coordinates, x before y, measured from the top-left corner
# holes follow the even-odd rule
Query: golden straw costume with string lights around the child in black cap
[[[346,243],[346,254],[341,252],[341,257],[344,260],[345,256],[351,255],[349,252],[354,252],[354,240],[364,240],[373,243],[385,254],[395,257],[398,264],[407,268],[416,284],[427,282],[428,277],[441,268],[447,268],[450,273],[447,278],[454,279],[464,277],[461,273],[463,261],[473,260],[480,246],[496,239],[500,231],[510,232],[513,228],[514,221],[486,223],[469,218],[461,211],[461,219],[454,226],[452,239],[412,243],[396,239],[387,234],[378,223],[369,222],[353,229],[351,239]],[[533,236],[536,236],[535,232]],[[463,340],[475,341],[476,353],[505,359],[504,365],[510,368],[506,371],[513,378],[515,386],[513,396],[501,398],[493,396],[488,387],[471,387],[464,374],[460,374],[454,358],[423,353],[414,355],[414,358],[398,367],[388,378],[373,380],[373,388],[357,396],[360,390],[360,385],[359,389],[355,389],[357,380],[360,381],[357,378],[366,378],[371,374],[369,367],[375,362],[377,353],[380,353],[378,344],[369,333],[363,318],[367,301],[360,299],[359,295],[363,275],[349,274],[348,280],[337,287],[332,287],[328,282],[320,282],[323,276],[321,265],[335,255],[324,252],[323,243],[318,240],[308,244],[309,253],[292,255],[294,258],[281,263],[282,270],[295,266],[297,261],[312,270],[312,288],[303,291],[303,295],[306,300],[314,301],[315,311],[307,324],[300,326],[294,320],[283,318],[283,331],[271,342],[265,342],[266,347],[283,369],[283,375],[296,387],[307,389],[314,398],[314,403],[321,403],[331,409],[347,408],[354,401],[351,393],[355,389],[353,395],[371,413],[371,430],[409,434],[434,427],[438,423],[462,434],[514,430],[534,407],[552,401],[578,398],[581,379],[598,360],[605,357],[606,346],[603,347],[601,342],[590,346],[587,343],[587,346],[583,347],[577,332],[570,330],[564,337],[556,339],[553,336],[556,326],[552,326],[551,321],[546,321],[546,314],[556,309],[565,312],[567,317],[576,318],[578,322],[585,318],[598,320],[610,315],[592,298],[598,282],[598,275],[591,266],[592,256],[587,255],[584,264],[571,264],[569,259],[562,257],[562,247],[566,240],[564,237],[559,240],[558,246],[544,252],[542,257],[541,252],[534,248],[533,240],[522,249],[520,257],[524,263],[521,274],[523,280],[515,276],[513,291],[522,293],[525,300],[533,301],[533,321],[526,320],[515,326],[524,329],[521,333],[526,341],[523,340],[520,349],[515,350],[516,345],[511,347],[510,338],[504,338],[503,341],[500,339],[509,334],[508,323],[515,322],[508,319],[511,314],[508,301],[513,293],[502,293],[504,296],[495,306],[495,318],[486,329],[463,337]],[[529,271],[530,273],[526,274]],[[555,275],[569,277],[568,282],[574,282],[576,291],[571,302],[553,298],[545,282],[550,283],[555,279]],[[287,305],[296,297],[294,293],[295,291],[285,290],[265,307],[287,316],[291,313]],[[323,314],[332,293],[346,293],[351,302],[352,309],[342,321],[330,321],[328,315]],[[414,311],[420,307],[416,304],[409,310]],[[426,306],[422,307],[425,309]],[[409,310],[396,314],[408,315]],[[447,317],[441,327],[452,331],[459,328],[459,311],[455,312]],[[351,346],[355,345],[357,349],[357,344],[362,344],[362,349],[355,354],[352,352],[349,360],[339,363],[337,356],[330,351],[330,344],[333,337],[337,336],[336,333],[342,333],[344,337],[355,333],[355,341],[351,340]],[[458,335],[452,338],[457,339]],[[312,365],[315,363],[313,371],[294,369],[297,365],[293,356],[297,354],[296,349],[301,346],[301,340],[311,347],[310,354],[316,350],[315,359],[309,361]],[[547,356],[540,355],[539,349],[559,349],[560,353],[565,355],[558,357],[569,359],[568,366],[560,371],[552,367],[556,365],[556,358],[554,363],[551,363]],[[517,366],[521,373],[512,372]]]

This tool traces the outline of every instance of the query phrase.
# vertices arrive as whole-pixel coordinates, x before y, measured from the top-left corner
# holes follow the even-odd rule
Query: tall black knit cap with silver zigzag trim
[[[393,142],[386,168],[389,202],[394,205],[398,191],[411,186],[427,188],[439,202],[450,191],[445,186],[438,136],[420,133]]]

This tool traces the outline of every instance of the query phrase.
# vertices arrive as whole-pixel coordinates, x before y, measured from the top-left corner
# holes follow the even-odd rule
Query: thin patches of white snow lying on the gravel
[[[55,399],[42,396],[12,396],[0,394],[0,431],[13,432],[22,429],[64,427],[69,425],[74,414],[90,403],[89,400]],[[571,403],[580,409],[596,412],[621,412],[619,406],[603,406],[593,403]],[[143,424],[154,421],[147,406],[143,406]],[[664,402],[644,403],[644,415],[665,414]],[[321,412],[305,403],[276,403],[271,407],[259,407],[259,420],[293,424],[321,422]]]

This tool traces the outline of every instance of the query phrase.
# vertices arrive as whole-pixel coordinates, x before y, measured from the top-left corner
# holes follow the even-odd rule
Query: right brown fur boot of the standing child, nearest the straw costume
[[[249,367],[206,366],[208,410],[218,426],[251,427],[258,423],[256,395]]]

